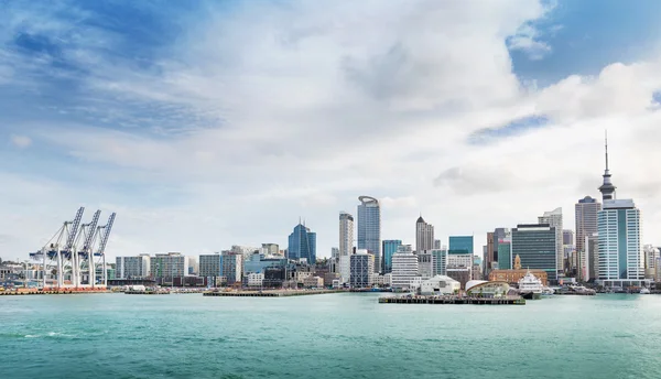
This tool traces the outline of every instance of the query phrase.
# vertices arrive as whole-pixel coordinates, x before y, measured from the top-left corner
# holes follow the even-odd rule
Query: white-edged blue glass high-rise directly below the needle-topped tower
[[[606,199],[597,219],[599,280],[604,286],[640,285],[644,279],[640,210],[631,199]]]

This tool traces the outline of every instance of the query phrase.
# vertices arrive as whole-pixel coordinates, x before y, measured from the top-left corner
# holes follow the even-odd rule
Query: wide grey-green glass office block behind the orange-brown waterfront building
[[[512,229],[511,253],[520,257],[523,268],[543,270],[554,282],[557,280],[557,236],[549,224],[518,225]]]

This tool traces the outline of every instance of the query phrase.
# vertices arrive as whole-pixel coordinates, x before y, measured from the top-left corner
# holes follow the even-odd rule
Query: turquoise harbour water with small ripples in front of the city
[[[377,297],[0,296],[0,377],[661,377],[661,296]]]

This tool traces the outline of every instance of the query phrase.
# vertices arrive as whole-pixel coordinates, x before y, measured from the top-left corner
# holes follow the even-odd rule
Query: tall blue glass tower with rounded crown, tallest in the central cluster
[[[381,207],[370,196],[358,197],[358,249],[375,256],[375,271],[381,269]]]

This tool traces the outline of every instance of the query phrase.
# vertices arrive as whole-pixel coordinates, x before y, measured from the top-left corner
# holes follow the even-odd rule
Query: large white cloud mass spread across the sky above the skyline
[[[384,239],[409,243],[421,212],[444,239],[484,241],[487,230],[556,206],[571,226],[573,203],[597,195],[605,128],[620,197],[658,208],[649,175],[661,159],[660,113],[650,108],[657,63],[522,88],[505,41],[546,52],[528,26],[546,11],[530,1],[248,2],[232,18],[210,10],[159,69],[99,59],[82,83],[90,96],[169,111],[182,133],[98,120],[19,126],[87,181],[48,178],[45,191],[41,178],[4,177],[2,209],[21,216],[0,217],[3,234],[18,237],[0,241],[0,255],[37,248],[79,204],[118,212],[111,255],[285,243],[301,216],[324,256],[337,245],[338,212],[355,213],[359,195],[381,199]],[[551,122],[468,143],[476,130],[531,115]],[[196,116],[220,121],[192,128]],[[36,197],[36,210],[13,205]],[[646,217],[646,229],[661,226],[661,214]]]

